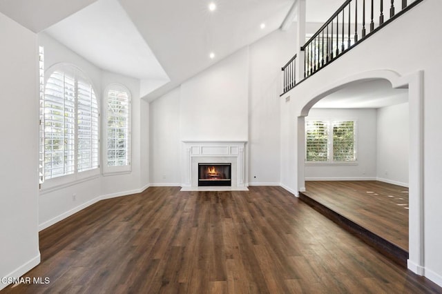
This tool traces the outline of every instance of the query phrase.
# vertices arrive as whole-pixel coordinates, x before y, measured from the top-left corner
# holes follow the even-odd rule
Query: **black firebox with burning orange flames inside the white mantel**
[[[198,164],[198,186],[231,186],[231,164]]]

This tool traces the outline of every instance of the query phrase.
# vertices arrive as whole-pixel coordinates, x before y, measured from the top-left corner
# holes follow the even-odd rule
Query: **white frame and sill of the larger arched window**
[[[49,99],[50,83],[54,79],[53,75],[63,75],[63,77],[70,77],[72,88],[63,86],[64,99],[64,172],[51,176],[50,159],[49,157],[54,153],[50,153],[50,133],[54,125],[51,125],[51,102]],[[66,80],[64,80],[66,83]],[[73,84],[72,84],[73,83]],[[100,160],[100,121],[99,121],[99,97],[97,97],[96,87],[93,85],[91,79],[86,73],[77,66],[70,63],[57,63],[51,66],[45,72],[45,92],[44,92],[44,175],[45,181],[42,185],[42,190],[52,190],[53,188],[62,188],[63,186],[70,186],[76,182],[83,182],[87,179],[99,176],[99,160]],[[66,95],[70,95],[68,99]],[[88,99],[90,95],[90,99]],[[90,102],[90,105],[88,103]],[[54,102],[52,102],[52,105]],[[68,109],[70,107],[70,109]],[[90,119],[88,119],[88,111],[90,110]],[[66,119],[68,117],[68,119]],[[86,139],[82,139],[79,135],[80,130],[83,129],[83,135],[88,133],[90,127],[90,135],[86,135]],[[68,133],[68,135],[66,135]],[[60,138],[63,135],[60,135]],[[86,140],[86,143],[84,143]],[[88,148],[88,144],[90,148]],[[84,148],[86,145],[86,148]],[[69,153],[69,154],[67,154]],[[66,157],[68,160],[66,160]],[[88,159],[86,159],[88,157]],[[70,162],[67,162],[70,161]]]

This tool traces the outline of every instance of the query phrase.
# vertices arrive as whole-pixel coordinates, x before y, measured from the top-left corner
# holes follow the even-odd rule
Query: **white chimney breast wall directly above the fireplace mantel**
[[[247,141],[248,66],[244,48],[182,84],[183,141]]]

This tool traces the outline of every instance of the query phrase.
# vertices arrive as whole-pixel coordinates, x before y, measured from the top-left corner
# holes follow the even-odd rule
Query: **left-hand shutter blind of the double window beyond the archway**
[[[306,121],[306,160],[329,160],[329,123],[327,121]]]

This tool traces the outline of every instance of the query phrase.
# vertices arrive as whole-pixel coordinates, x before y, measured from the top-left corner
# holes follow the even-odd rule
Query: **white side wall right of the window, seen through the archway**
[[[408,103],[377,110],[377,177],[408,186]]]

